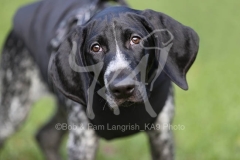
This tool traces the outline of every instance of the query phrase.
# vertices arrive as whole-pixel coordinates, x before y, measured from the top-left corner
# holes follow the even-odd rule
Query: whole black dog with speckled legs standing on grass
[[[45,0],[17,12],[2,53],[0,144],[50,91],[58,110],[37,134],[47,159],[60,159],[66,122],[69,159],[94,159],[98,137],[143,130],[153,159],[174,158],[163,127],[174,115],[171,81],[188,89],[198,36],[163,13],[117,2]]]

